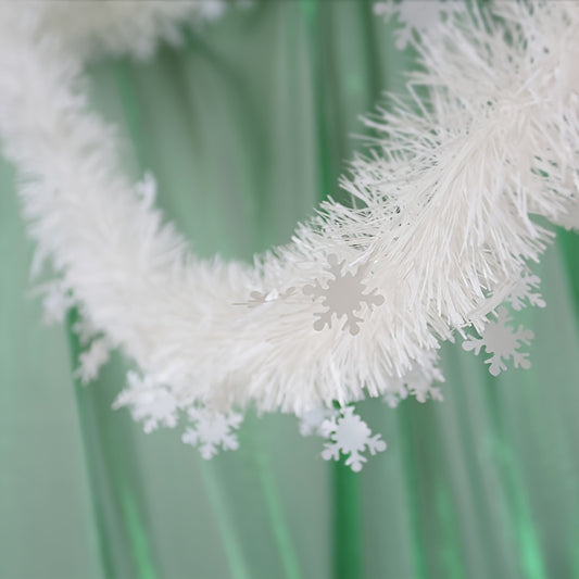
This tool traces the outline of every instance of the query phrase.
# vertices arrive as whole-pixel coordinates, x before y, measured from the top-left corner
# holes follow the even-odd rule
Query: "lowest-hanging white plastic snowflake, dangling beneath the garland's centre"
[[[345,466],[354,473],[362,470],[367,458],[362,454],[368,451],[372,455],[386,450],[381,435],[372,436],[372,430],[362,418],[354,414],[353,406],[345,406],[337,417],[323,424],[324,435],[330,440],[324,444],[322,457],[325,461],[340,460],[340,453],[347,455]]]

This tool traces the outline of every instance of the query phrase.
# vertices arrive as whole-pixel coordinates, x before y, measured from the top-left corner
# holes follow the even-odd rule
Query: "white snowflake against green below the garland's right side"
[[[487,353],[492,354],[484,361],[484,364],[490,364],[489,372],[493,376],[498,376],[506,369],[504,361],[508,358],[513,358],[515,368],[528,369],[531,367],[531,363],[527,360],[529,354],[519,352],[518,349],[523,343],[529,344],[534,333],[523,326],[515,330],[513,326],[508,325],[512,319],[506,307],[499,307],[496,322],[489,322],[480,338],[469,336],[469,339],[463,342],[463,349],[467,352],[474,350],[475,354],[478,355],[481,348],[484,347]]]

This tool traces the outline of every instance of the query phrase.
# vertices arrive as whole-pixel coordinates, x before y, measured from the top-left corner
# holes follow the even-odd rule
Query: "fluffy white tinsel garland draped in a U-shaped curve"
[[[399,392],[408,374],[430,383],[440,341],[481,328],[550,241],[532,215],[563,222],[577,202],[576,2],[469,10],[425,36],[410,97],[365,121],[373,152],[342,179],[357,209],[325,203],[253,267],[189,252],[150,184],[143,194],[119,173],[113,131],[87,110],[81,61],[55,26],[0,10],[0,134],[30,231],[95,328],[179,407],[303,414]],[[147,55],[166,37],[147,22],[135,46],[89,36]],[[385,298],[361,304],[356,335],[313,327],[319,304],[303,289],[328,279],[330,255],[364,267]]]

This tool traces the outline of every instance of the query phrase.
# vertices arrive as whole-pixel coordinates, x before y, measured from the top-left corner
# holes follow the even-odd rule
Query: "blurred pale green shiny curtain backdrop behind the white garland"
[[[412,65],[370,2],[287,0],[231,10],[179,50],[89,77],[126,171],[153,172],[196,251],[249,260],[339,197],[358,115]],[[537,333],[532,369],[492,379],[445,348],[443,403],[360,404],[389,450],[353,475],[287,416],[248,416],[241,449],[211,462],[176,431],[147,436],[110,408],[118,357],[90,387],[74,383],[75,314],[41,325],[5,162],[0,187],[1,578],[579,577],[574,234],[538,267],[546,310],[520,316]]]

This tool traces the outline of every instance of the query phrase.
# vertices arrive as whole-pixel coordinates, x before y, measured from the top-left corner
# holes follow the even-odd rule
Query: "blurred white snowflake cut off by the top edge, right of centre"
[[[456,0],[413,0],[412,2],[389,0],[376,2],[374,12],[383,16],[386,21],[398,15],[401,27],[394,32],[395,45],[399,50],[404,50],[413,40],[413,32],[424,34],[432,29],[444,16],[462,8]]]

